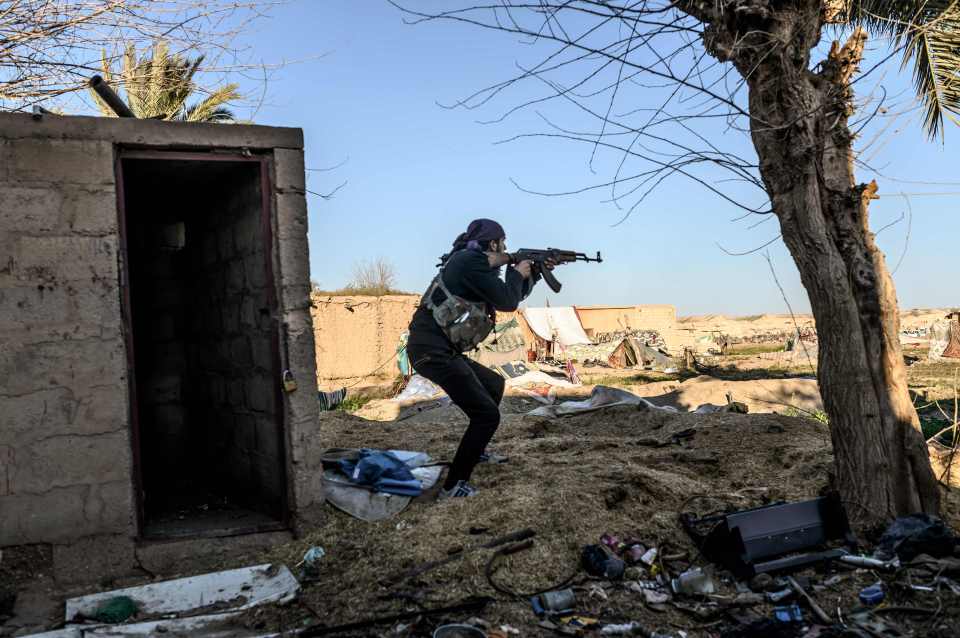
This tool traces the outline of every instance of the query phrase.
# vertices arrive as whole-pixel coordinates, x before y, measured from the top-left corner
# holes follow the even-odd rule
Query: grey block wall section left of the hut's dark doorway
[[[0,135],[0,546],[132,529],[117,253],[111,144]]]

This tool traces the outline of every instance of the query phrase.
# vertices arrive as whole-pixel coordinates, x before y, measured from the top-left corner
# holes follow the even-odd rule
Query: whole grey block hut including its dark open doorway
[[[299,129],[0,113],[0,547],[319,520],[308,264]]]

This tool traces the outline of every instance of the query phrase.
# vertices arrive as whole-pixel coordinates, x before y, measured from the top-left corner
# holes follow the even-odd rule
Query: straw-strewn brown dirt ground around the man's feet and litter
[[[299,615],[288,609],[284,625],[309,622],[313,616],[329,626],[417,605],[446,606],[470,596],[494,596],[496,602],[480,614],[491,625],[508,624],[522,635],[551,635],[537,626],[526,598],[498,594],[488,583],[484,569],[492,550],[469,552],[402,587],[380,583],[456,548],[473,548],[524,528],[536,532],[533,548],[500,559],[495,573],[498,583],[517,592],[539,591],[567,580],[578,571],[581,547],[598,542],[605,532],[641,540],[662,553],[686,552],[689,558],[695,551],[677,522],[680,511],[704,513],[723,504],[741,508],[811,498],[830,481],[828,433],[811,419],[668,414],[632,407],[561,420],[518,414],[534,405],[524,399],[506,401],[505,409],[512,413],[505,416],[494,446],[509,462],[478,468],[476,497],[414,502],[397,518],[373,524],[331,509],[323,528],[270,552],[270,560],[293,565],[312,545],[327,551],[324,570],[330,578],[305,588]],[[464,425],[455,408],[425,412],[401,423],[333,412],[324,415],[318,435],[331,446],[423,450],[436,459],[450,459]],[[695,431],[690,439],[653,446],[688,429]],[[955,494],[949,495],[948,517],[955,527],[960,523]],[[473,533],[478,530],[483,531]],[[690,564],[684,559],[667,567],[679,571]],[[845,588],[830,592],[831,601],[838,598],[839,606],[852,608],[855,592],[871,578],[867,573],[849,576]],[[578,611],[605,622],[634,620],[650,628],[683,629],[689,636],[718,635],[718,626],[711,624],[714,619],[672,607],[654,611],[622,584],[601,586],[601,594],[598,583],[585,580],[582,571],[574,582]],[[950,623],[960,619],[960,609],[950,610]],[[761,605],[756,611],[769,613],[769,607]],[[264,614],[260,621],[280,628],[276,615]],[[427,635],[431,622],[418,626],[417,635]],[[947,633],[915,635],[956,635],[951,633],[954,625],[949,626]],[[386,635],[389,627],[380,630]]]

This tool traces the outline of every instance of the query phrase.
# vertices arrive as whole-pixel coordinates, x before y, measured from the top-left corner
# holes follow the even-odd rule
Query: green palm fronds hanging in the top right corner
[[[942,139],[944,118],[960,115],[960,0],[853,0],[849,11],[852,24],[903,47],[924,130]]]

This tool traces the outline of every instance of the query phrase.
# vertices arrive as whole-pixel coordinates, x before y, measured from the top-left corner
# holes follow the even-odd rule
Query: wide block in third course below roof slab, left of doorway
[[[117,282],[117,238],[31,237],[17,239],[14,271],[33,282]]]

